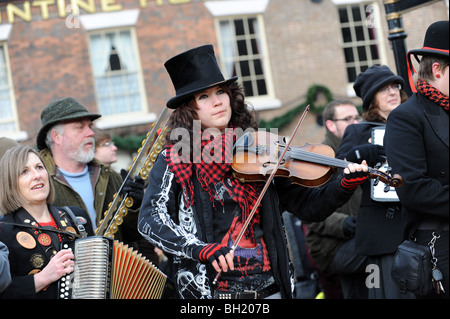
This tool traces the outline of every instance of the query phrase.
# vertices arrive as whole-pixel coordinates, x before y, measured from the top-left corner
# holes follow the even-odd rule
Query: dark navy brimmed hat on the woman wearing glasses
[[[375,93],[389,83],[405,86],[401,76],[395,75],[386,65],[374,65],[360,73],[353,84],[357,96],[363,100],[363,111],[367,111]]]

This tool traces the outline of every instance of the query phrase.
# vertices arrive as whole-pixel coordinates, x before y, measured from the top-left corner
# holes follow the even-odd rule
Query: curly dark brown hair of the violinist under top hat
[[[230,97],[231,105],[231,119],[230,124],[234,128],[241,128],[246,130],[248,128],[257,129],[258,123],[256,121],[256,115],[253,109],[251,109],[245,102],[244,89],[241,85],[233,83],[231,85],[219,85],[221,89],[225,91]],[[193,136],[193,122],[198,120],[196,104],[194,95],[191,95],[172,112],[169,118],[168,126],[171,130],[175,128],[186,129],[191,137]],[[172,140],[170,138],[170,130],[166,134],[167,143],[176,143],[178,140]]]

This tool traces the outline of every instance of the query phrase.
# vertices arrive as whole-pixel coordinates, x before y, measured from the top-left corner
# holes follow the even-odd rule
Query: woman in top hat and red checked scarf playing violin
[[[171,259],[179,298],[291,298],[279,204],[301,219],[324,220],[367,178],[368,167],[349,164],[343,177],[320,188],[275,177],[255,205],[264,182],[243,183],[231,168],[235,132],[257,127],[237,78],[224,79],[211,45],[165,67],[176,90],[167,102],[172,132],[150,171],[139,231]]]

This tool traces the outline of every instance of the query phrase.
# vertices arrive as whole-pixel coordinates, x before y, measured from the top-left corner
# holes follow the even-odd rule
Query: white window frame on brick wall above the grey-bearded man
[[[139,54],[136,23],[139,17],[139,10],[123,10],[120,12],[102,12],[97,14],[87,14],[80,16],[80,22],[83,28],[88,31],[88,43],[91,48],[90,36],[93,34],[106,34],[109,32],[129,31],[133,51],[136,55],[136,67],[138,86],[141,98],[141,110],[137,112],[128,112],[102,116],[95,121],[97,127],[101,129],[110,129],[116,127],[133,126],[152,123],[156,120],[156,113],[149,112],[147,96],[142,74],[141,58]],[[91,50],[89,50],[91,52]],[[93,74],[95,83],[95,75]],[[97,91],[95,90],[96,101],[98,101]]]

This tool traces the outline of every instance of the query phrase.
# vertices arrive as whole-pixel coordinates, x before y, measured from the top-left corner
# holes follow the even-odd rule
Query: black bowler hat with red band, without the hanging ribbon
[[[425,33],[422,49],[410,50],[409,54],[434,55],[448,58],[448,20],[431,24]]]

